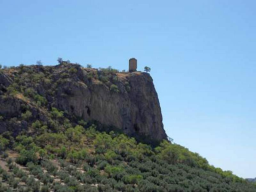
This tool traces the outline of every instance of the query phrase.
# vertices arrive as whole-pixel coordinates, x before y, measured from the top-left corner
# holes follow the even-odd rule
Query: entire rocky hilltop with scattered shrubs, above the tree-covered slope
[[[51,127],[47,114],[57,108],[68,119],[97,121],[130,136],[156,141],[167,138],[148,73],[83,68],[67,62],[21,65],[1,69],[0,95],[0,115],[5,119],[0,121],[0,133],[15,127],[12,131],[18,134],[35,119]],[[31,117],[24,118],[26,112]]]

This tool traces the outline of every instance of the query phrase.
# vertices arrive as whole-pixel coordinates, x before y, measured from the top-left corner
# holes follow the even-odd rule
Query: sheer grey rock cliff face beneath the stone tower
[[[28,66],[22,70],[43,77],[26,83],[47,99],[49,109],[56,107],[70,117],[115,126],[132,136],[140,134],[157,141],[167,138],[158,96],[148,73],[106,72],[65,62],[57,66]],[[14,77],[24,78],[17,73],[0,74],[3,89],[12,84]],[[20,110],[19,106],[5,103],[0,114],[17,115],[15,110]]]

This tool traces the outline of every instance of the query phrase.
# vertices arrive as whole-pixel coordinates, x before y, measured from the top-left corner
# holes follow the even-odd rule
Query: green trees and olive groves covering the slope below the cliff
[[[244,179],[210,166],[180,145],[163,141],[152,149],[124,134],[81,124],[86,123],[53,133],[36,121],[31,125],[34,134],[12,138],[4,133],[1,148],[12,173],[1,170],[3,181],[25,191],[32,186],[31,191],[39,191],[40,182],[48,186],[41,191],[255,191]],[[10,149],[19,154],[16,163],[28,167],[31,176],[8,159]],[[19,187],[14,178],[26,185]]]

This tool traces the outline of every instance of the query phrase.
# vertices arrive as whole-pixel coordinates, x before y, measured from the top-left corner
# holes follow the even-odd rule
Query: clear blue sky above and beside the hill
[[[255,1],[0,1],[0,63],[152,69],[167,134],[256,177]]]

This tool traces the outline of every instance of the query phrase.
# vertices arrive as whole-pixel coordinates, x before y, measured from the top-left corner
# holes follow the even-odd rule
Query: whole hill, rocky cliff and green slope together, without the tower
[[[148,74],[21,65],[0,90],[0,191],[256,191],[166,140]]]

